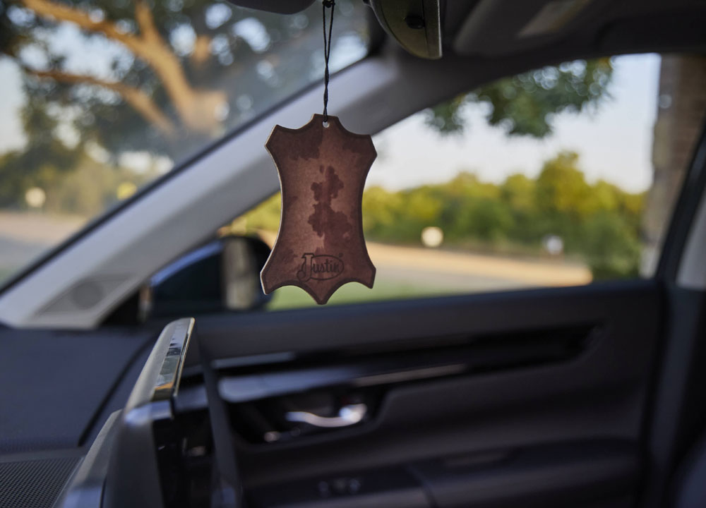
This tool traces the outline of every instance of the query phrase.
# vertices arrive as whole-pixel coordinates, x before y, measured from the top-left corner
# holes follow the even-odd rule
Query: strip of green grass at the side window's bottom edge
[[[328,305],[344,303],[362,303],[369,301],[392,300],[400,298],[415,298],[420,296],[439,296],[449,294],[448,288],[414,285],[401,282],[376,280],[373,289],[363,284],[351,282],[340,287],[331,296]],[[316,302],[304,289],[295,286],[285,286],[273,293],[273,299],[268,310],[285,310],[289,308],[315,307]]]

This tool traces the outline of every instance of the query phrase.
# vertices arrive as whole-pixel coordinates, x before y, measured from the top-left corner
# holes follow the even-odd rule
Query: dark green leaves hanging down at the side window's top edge
[[[442,134],[461,133],[462,108],[486,104],[491,126],[508,135],[544,138],[551,134],[551,120],[563,111],[579,113],[596,107],[608,95],[613,75],[610,59],[573,61],[548,66],[482,85],[427,111],[426,123]]]

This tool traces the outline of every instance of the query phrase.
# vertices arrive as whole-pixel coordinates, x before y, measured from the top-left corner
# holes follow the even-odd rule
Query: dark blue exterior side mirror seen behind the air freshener
[[[143,294],[145,317],[178,317],[261,308],[260,270],[269,246],[251,236],[225,236],[162,268]]]

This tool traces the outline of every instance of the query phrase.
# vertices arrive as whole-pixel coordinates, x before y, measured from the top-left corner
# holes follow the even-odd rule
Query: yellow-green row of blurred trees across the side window
[[[594,278],[636,276],[644,193],[590,184],[578,164],[577,154],[560,152],[537,179],[514,174],[495,185],[463,172],[399,192],[371,187],[363,193],[363,229],[369,240],[419,245],[422,229],[438,226],[446,246],[534,254],[543,252],[546,236],[558,235],[566,254],[582,258]],[[279,195],[244,218],[248,229],[275,231]]]

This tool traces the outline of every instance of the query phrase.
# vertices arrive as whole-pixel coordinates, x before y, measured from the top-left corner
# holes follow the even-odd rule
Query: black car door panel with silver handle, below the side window
[[[258,492],[294,499],[322,478],[395,471],[438,506],[621,506],[640,476],[661,295],[657,282],[612,282],[207,317],[197,326],[220,366],[256,505],[328,506],[311,504],[321,496],[278,504]],[[186,377],[196,360],[187,358]],[[422,365],[462,368],[409,376]],[[357,397],[370,412],[350,428],[258,436],[284,432],[277,411],[317,394]],[[179,398],[186,404],[189,389]],[[259,423],[247,428],[253,411]]]

